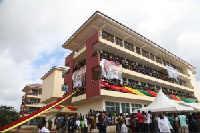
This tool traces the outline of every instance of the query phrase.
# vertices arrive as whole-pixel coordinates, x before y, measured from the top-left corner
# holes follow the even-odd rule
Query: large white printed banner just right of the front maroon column
[[[122,82],[122,65],[102,59],[102,76],[107,79],[118,79]]]

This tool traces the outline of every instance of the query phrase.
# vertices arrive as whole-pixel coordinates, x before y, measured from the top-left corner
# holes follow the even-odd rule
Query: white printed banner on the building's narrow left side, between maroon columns
[[[75,71],[72,75],[73,86],[82,87],[85,86],[85,73],[86,67],[81,67],[79,70]]]

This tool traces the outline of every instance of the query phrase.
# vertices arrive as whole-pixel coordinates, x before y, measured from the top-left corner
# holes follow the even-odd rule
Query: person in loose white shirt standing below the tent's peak
[[[168,132],[171,133],[170,129],[172,128],[167,117],[164,117],[163,114],[160,115],[160,119],[158,119],[158,127],[160,132]]]

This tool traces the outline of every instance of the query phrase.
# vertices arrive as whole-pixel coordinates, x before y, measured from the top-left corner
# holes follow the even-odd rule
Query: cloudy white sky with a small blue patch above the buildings
[[[19,111],[22,89],[64,66],[62,44],[97,10],[195,66],[200,86],[199,0],[0,0],[0,105]]]

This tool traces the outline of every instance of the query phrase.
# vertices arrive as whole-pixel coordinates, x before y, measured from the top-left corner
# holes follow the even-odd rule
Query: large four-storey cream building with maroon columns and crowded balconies
[[[70,69],[64,85],[69,94],[78,90],[71,103],[82,114],[89,109],[132,112],[151,103],[161,88],[171,99],[196,102],[194,66],[100,12],[63,48],[72,51],[65,60]]]

